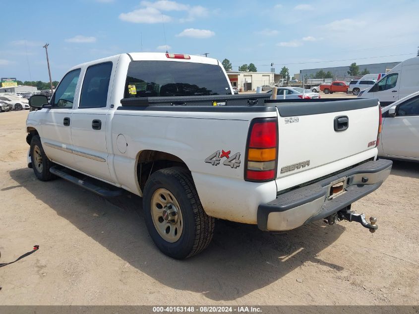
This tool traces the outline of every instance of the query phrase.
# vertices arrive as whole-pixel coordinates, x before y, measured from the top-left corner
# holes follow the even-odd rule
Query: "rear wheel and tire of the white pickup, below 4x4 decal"
[[[164,254],[187,258],[211,242],[215,219],[205,213],[187,169],[172,167],[153,173],[144,188],[143,208],[148,232]]]

